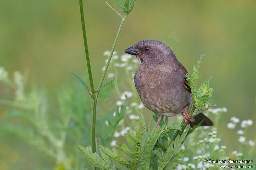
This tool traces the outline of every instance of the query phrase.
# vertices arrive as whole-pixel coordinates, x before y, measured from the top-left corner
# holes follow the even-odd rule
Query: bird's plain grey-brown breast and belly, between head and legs
[[[149,69],[142,63],[134,83],[145,107],[159,115],[172,116],[181,113],[190,102],[190,93],[182,84],[184,75],[178,70],[166,70]]]

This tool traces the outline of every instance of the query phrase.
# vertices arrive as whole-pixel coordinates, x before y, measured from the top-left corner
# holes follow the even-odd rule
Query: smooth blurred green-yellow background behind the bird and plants
[[[104,2],[84,1],[95,84],[105,64],[102,53],[111,49],[121,20]],[[108,2],[121,12],[115,0]],[[220,126],[226,128],[232,116],[255,122],[255,11],[255,1],[137,0],[115,50],[120,55],[138,41],[155,39],[170,47],[188,72],[192,72],[199,56],[206,54],[199,81],[213,75],[212,100],[217,107],[228,108]],[[76,81],[70,71],[86,73],[78,1],[1,1],[0,66],[11,77],[13,71],[29,68],[27,88],[32,82],[43,84],[54,107],[60,84]],[[151,113],[147,113],[147,121],[153,122]],[[222,138],[227,143],[230,136],[223,131]],[[0,167],[4,169],[21,164],[29,165],[24,169],[54,164],[46,155],[12,137],[2,138],[0,144]]]

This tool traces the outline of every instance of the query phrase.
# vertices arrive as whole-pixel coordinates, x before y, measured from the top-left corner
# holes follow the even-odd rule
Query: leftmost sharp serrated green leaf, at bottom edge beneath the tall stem
[[[101,159],[96,152],[93,154],[89,147],[84,148],[83,146],[78,145],[78,148],[82,152],[84,160],[86,160],[91,165],[99,169],[116,170],[116,168],[111,167],[110,164]]]

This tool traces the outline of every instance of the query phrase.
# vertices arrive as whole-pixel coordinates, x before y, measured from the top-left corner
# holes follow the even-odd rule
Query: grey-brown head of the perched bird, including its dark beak
[[[127,54],[134,55],[141,62],[158,64],[175,57],[174,53],[164,43],[156,40],[143,40],[127,48]],[[176,57],[175,57],[176,58]]]

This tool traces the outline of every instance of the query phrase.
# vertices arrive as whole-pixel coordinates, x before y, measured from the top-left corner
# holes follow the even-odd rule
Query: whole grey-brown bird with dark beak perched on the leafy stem
[[[164,43],[144,40],[124,52],[141,61],[134,83],[144,106],[158,115],[156,127],[164,116],[177,114],[182,114],[191,127],[203,120],[201,126],[213,125],[203,113],[194,119],[188,114],[191,89],[184,77],[188,72]]]

